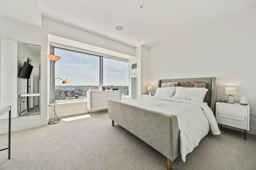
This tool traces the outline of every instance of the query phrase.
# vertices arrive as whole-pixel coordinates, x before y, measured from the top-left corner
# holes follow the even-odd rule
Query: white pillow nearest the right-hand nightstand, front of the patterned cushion
[[[193,100],[196,102],[203,102],[204,96],[208,91],[207,88],[190,88],[190,87],[176,87],[176,92],[173,98],[181,98],[181,99],[188,99]]]

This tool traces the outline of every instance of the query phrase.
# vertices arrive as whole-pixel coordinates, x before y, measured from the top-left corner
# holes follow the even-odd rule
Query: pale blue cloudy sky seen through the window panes
[[[55,63],[55,77],[68,78],[66,85],[98,85],[99,84],[99,57],[56,49],[54,55],[61,57]],[[128,86],[129,63],[104,58],[103,85]],[[64,85],[56,79],[56,85]]]

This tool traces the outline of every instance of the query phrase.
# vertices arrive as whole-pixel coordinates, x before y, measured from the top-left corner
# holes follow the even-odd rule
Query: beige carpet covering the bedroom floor
[[[61,121],[12,133],[11,159],[0,152],[0,170],[166,170],[166,157],[116,125],[106,111],[93,117]],[[173,170],[253,170],[256,168],[256,136],[221,128],[209,133]],[[0,148],[8,146],[0,135]]]

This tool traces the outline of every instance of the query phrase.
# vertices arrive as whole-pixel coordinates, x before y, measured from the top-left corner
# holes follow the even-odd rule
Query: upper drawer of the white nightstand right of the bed
[[[238,107],[238,106],[230,107],[228,105],[218,104],[217,113],[236,116],[236,117],[248,118],[248,108],[247,107]]]

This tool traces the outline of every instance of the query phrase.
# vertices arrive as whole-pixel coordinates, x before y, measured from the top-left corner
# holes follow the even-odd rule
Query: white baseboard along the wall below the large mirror
[[[19,125],[12,125],[11,132],[15,131],[22,131],[25,129],[32,129],[34,127],[40,127],[44,125],[48,125],[49,120],[41,120],[41,121],[34,121],[30,123],[22,123]],[[0,127],[0,134],[8,133],[8,126]]]

